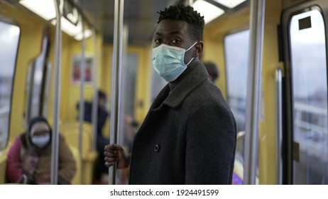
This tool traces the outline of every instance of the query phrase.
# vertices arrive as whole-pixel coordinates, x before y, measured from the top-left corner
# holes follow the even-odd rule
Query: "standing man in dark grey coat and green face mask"
[[[130,184],[231,184],[236,122],[198,60],[204,17],[183,5],[159,14],[153,67],[169,83],[151,105],[131,154],[107,145],[105,164],[129,167]]]

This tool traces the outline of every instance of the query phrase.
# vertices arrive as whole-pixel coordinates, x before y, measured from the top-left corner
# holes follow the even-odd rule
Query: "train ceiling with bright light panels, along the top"
[[[49,7],[45,5],[46,2],[48,2],[47,4],[51,4],[50,6],[53,6],[53,0],[6,1],[21,9],[32,11],[39,7],[40,11],[46,10],[45,14],[53,14],[53,16],[50,15],[49,18],[41,17],[49,23],[55,24],[55,9],[52,8],[50,9],[51,11],[45,9],[46,7]],[[82,16],[87,19],[89,24],[94,26],[97,31],[102,32],[104,43],[113,43],[114,1],[115,0],[65,0],[65,4],[72,4],[73,6],[64,5],[64,7],[67,7],[65,10],[66,13],[70,14],[71,12],[72,15],[74,15],[72,7],[78,7],[78,10],[83,12]],[[151,43],[153,32],[155,31],[158,21],[157,12],[163,10],[167,6],[175,4],[192,4],[201,15],[204,15],[205,22],[208,23],[213,19],[219,18],[220,15],[227,16],[237,9],[241,9],[241,7],[248,4],[248,1],[249,0],[124,0],[124,26],[128,31],[129,45],[149,45]],[[31,6],[28,8],[24,3],[31,3]],[[212,14],[217,14],[217,16],[212,16],[211,19],[211,16],[207,16],[207,14],[211,12]],[[40,16],[38,11],[33,11],[33,13]],[[75,16],[73,18],[77,17]],[[77,21],[75,22],[76,26],[79,26]],[[62,29],[67,33],[64,27],[62,27]],[[75,33],[69,34],[77,38],[77,32],[79,32],[78,29],[79,28],[75,30]],[[80,32],[82,32],[81,30],[82,28],[80,25]],[[89,34],[90,33],[91,31],[89,31]],[[82,38],[82,33],[80,33],[80,38]]]

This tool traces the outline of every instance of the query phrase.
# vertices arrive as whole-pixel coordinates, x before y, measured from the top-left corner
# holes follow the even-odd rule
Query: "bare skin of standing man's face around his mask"
[[[176,21],[164,19],[158,24],[154,37],[153,48],[161,45],[173,45],[186,50],[194,44],[188,32],[188,23],[185,21]],[[194,55],[195,45],[185,53],[185,63],[188,63]]]

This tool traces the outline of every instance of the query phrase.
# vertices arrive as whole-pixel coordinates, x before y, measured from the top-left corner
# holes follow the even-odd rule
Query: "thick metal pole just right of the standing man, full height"
[[[256,184],[258,109],[261,92],[265,0],[251,0],[250,45],[246,95],[244,184]]]

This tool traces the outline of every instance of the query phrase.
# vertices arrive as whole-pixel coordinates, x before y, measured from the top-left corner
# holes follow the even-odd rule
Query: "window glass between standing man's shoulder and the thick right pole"
[[[227,101],[234,113],[238,132],[245,131],[248,44],[249,30],[234,33],[224,38]],[[244,159],[244,136],[241,136],[237,141],[236,158],[241,162]]]

